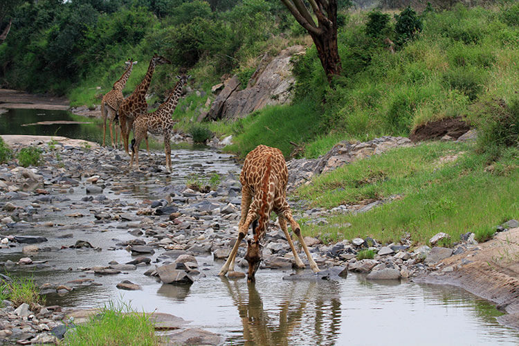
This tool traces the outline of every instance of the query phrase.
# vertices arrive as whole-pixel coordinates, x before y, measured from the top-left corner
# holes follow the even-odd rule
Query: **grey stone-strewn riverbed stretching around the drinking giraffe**
[[[30,144],[43,150],[42,165],[24,168],[12,161],[0,166],[0,265],[10,273],[55,273],[48,281],[44,276],[38,279],[42,293],[48,297],[89,292],[99,285],[139,290],[139,282],[126,280],[127,273],[141,275],[132,277],[142,280],[191,284],[217,271],[222,264],[217,261],[228,256],[237,237],[241,202],[240,166],[230,156],[217,152],[173,154],[177,170],[167,174],[164,155],[158,152],[151,157],[141,154],[141,172],[136,172],[129,171],[129,158],[122,151],[62,145],[59,141]],[[398,145],[408,145],[408,141],[377,138],[370,143],[345,144],[326,161],[321,158],[289,165],[290,174],[298,176],[295,172],[304,172],[302,167],[312,167],[308,172],[318,174],[331,169],[332,161],[349,162],[355,159],[355,153],[360,153],[360,158]],[[203,177],[215,174],[219,184],[208,192],[186,185],[188,180],[203,181]],[[309,179],[309,174],[299,176],[302,178],[292,179],[292,184]],[[298,215],[304,219],[319,223],[331,213],[366,212],[394,198],[398,196],[367,206],[339,206],[333,210],[307,210],[300,204],[295,208],[300,209]],[[498,230],[514,227],[510,222]],[[478,251],[471,233],[453,239],[453,248],[435,246],[446,236],[439,234],[431,239],[432,248],[413,247],[410,239],[379,244],[376,239],[355,238],[322,244],[320,239],[306,237],[305,242],[314,260],[326,270],[314,276],[319,280],[339,280],[338,273],[347,273],[344,269],[365,273],[369,280],[408,280],[431,272],[457,271],[463,262],[453,266],[437,263],[451,255]],[[245,249],[244,242],[237,255],[238,270],[246,266],[242,260]],[[357,253],[364,249],[376,251],[374,258],[357,260]],[[208,257],[214,260],[200,260]],[[272,221],[268,228],[263,257],[260,271],[292,268],[293,255],[277,222]],[[300,257],[307,264],[304,253]],[[312,275],[303,273],[289,278],[309,277]],[[0,338],[4,341],[55,342],[55,337],[60,338],[66,325],[73,322],[67,315],[72,312],[64,307],[35,307],[30,311],[28,307],[15,309],[6,304],[0,310]],[[175,333],[179,328],[175,325]],[[201,340],[207,344],[221,342],[206,331],[183,327],[181,333],[188,337],[193,333],[206,335],[208,338]],[[173,340],[184,342],[180,337]]]

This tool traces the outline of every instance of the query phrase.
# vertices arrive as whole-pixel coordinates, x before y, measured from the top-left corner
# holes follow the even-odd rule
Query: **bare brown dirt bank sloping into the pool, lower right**
[[[472,251],[448,257],[437,268],[415,282],[462,287],[497,304],[508,313],[498,320],[519,329],[519,228],[499,233]]]

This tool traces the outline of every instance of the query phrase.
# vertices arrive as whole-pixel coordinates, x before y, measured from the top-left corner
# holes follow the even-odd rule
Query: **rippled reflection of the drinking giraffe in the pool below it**
[[[334,345],[338,338],[341,309],[337,282],[290,282],[277,306],[265,309],[255,284],[226,277],[221,280],[238,309],[243,327],[243,340],[228,338],[227,343]],[[272,297],[271,292],[264,295]]]

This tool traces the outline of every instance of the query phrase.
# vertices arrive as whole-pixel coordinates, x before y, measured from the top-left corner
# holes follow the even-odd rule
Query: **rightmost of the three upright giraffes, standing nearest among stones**
[[[151,134],[164,135],[164,151],[166,154],[166,167],[171,172],[171,131],[173,129],[173,119],[171,114],[174,112],[176,105],[179,104],[180,94],[185,82],[190,75],[177,75],[179,81],[176,82],[173,91],[167,97],[167,100],[158,109],[152,113],[140,114],[134,122],[134,139],[131,140],[131,160],[130,168],[134,165],[134,156],[137,169],[139,167],[139,145],[143,138],[148,138],[148,132]]]

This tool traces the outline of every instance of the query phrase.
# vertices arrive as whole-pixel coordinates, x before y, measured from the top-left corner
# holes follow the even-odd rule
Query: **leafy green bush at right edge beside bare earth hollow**
[[[473,106],[472,120],[478,129],[477,147],[498,156],[500,148],[519,144],[519,98],[510,102],[486,100]]]

